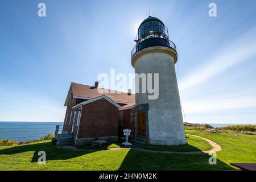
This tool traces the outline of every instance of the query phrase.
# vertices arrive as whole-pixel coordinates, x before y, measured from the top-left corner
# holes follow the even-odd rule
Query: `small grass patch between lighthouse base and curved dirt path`
[[[142,147],[150,150],[160,150],[160,151],[204,151],[212,148],[212,146],[204,139],[193,137],[193,136],[187,136],[186,138],[187,138],[187,144],[184,144],[182,146],[147,145]]]

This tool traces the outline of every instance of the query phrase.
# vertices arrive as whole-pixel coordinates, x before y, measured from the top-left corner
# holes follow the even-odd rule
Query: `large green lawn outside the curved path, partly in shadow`
[[[209,138],[221,145],[217,165],[209,165],[207,154],[156,154],[128,148],[68,151],[57,149],[46,140],[0,147],[0,170],[222,170],[232,169],[229,163],[256,163],[256,135],[209,134],[195,130],[186,130],[186,133]],[[38,164],[38,152],[42,150],[46,151],[46,165]]]

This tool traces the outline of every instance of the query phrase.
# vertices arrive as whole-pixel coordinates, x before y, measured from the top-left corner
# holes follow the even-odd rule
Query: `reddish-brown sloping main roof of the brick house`
[[[68,104],[71,93],[73,93],[73,97],[75,98],[82,98],[86,100],[105,95],[119,104],[135,104],[135,94],[129,95],[123,92],[118,93],[118,91],[115,90],[96,88],[94,86],[82,85],[71,82],[71,87],[69,88],[68,96],[65,101],[65,106],[67,106]]]

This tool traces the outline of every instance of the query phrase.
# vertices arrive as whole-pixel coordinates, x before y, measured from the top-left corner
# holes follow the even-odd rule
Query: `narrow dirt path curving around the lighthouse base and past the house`
[[[137,151],[143,151],[143,152],[152,152],[152,153],[160,153],[160,154],[209,154],[209,152],[218,152],[221,151],[222,148],[219,144],[213,142],[212,140],[209,140],[207,138],[204,137],[200,137],[197,135],[190,135],[187,134],[189,136],[193,136],[193,137],[198,137],[201,139],[204,139],[205,141],[207,141],[212,148],[210,150],[205,150],[205,151],[191,151],[191,152],[178,152],[178,151],[159,151],[159,150],[150,150],[150,149],[146,149],[146,148],[142,148],[140,146],[131,146],[130,148],[132,150],[137,150]],[[76,148],[73,146],[57,146],[58,148],[64,148],[66,150],[73,150],[73,151],[101,151],[101,150],[122,150],[122,149],[127,149],[125,147],[115,147],[115,148],[106,148],[106,149],[81,149],[81,148]]]

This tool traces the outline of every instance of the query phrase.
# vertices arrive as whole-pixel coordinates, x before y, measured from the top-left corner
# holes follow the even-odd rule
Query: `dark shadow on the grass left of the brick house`
[[[22,152],[34,151],[34,155],[31,159],[31,162],[38,162],[39,151],[46,152],[46,160],[66,160],[76,158],[81,155],[89,154],[93,151],[71,151],[59,149],[51,142],[42,142],[35,144],[25,144],[20,146],[14,146],[10,148],[5,148],[0,150],[0,155],[11,155],[11,154],[19,154]]]

